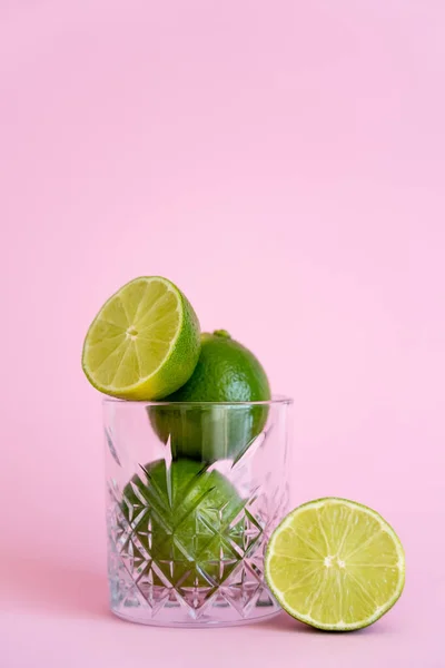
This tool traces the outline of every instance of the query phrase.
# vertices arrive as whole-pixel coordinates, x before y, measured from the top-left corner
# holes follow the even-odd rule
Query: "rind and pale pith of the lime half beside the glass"
[[[367,569],[370,567],[370,568],[377,568],[377,569],[392,568],[393,570],[397,570],[396,586],[394,588],[394,592],[390,596],[388,596],[387,600],[382,602],[382,605],[376,606],[374,613],[368,615],[366,618],[356,619],[348,623],[345,623],[342,620],[333,621],[330,623],[326,622],[326,621],[322,622],[319,619],[317,620],[317,619],[310,617],[310,615],[308,616],[307,613],[306,615],[301,613],[298,609],[296,609],[295,606],[289,606],[288,602],[286,602],[286,600],[285,600],[286,592],[283,592],[281,588],[277,587],[276,581],[275,581],[276,576],[274,577],[274,574],[271,572],[271,561],[273,561],[274,557],[277,557],[278,559],[281,559],[281,560],[287,558],[286,556],[283,558],[283,554],[277,556],[277,553],[275,551],[276,542],[277,542],[278,538],[280,536],[283,536],[287,529],[290,529],[298,539],[298,533],[296,533],[295,528],[293,528],[293,520],[295,520],[295,518],[297,518],[305,510],[317,510],[317,509],[325,508],[327,504],[339,504],[343,507],[347,507],[349,510],[352,510],[354,512],[363,512],[363,513],[368,514],[370,518],[373,518],[378,523],[380,530],[383,532],[386,532],[387,537],[389,537],[390,542],[393,543],[393,547],[394,547],[393,557],[394,556],[397,557],[397,562],[393,563],[390,566],[389,564],[380,564],[378,562],[362,564],[363,567],[365,567]],[[320,524],[320,527],[322,527],[322,524]],[[334,531],[334,529],[333,529],[333,531]],[[352,534],[353,534],[353,531],[349,532],[348,540],[350,540]],[[325,539],[326,539],[326,534],[325,534]],[[300,540],[304,542],[304,539],[301,537],[300,537]],[[368,542],[370,543],[372,540],[373,539],[369,539]],[[343,546],[340,546],[340,547],[343,547]],[[314,548],[314,546],[312,546],[312,547],[308,546],[309,553],[313,548]],[[364,549],[366,549],[365,543],[363,543],[362,546],[358,544],[357,550],[355,550],[354,553],[359,553],[359,551],[364,550]],[[307,549],[305,550],[305,548],[304,548],[303,550],[307,552]],[[369,557],[367,557],[367,558],[369,558]],[[312,558],[309,560],[298,557],[298,554],[296,554],[296,553],[294,553],[291,558],[288,557],[288,559],[290,559],[290,561],[294,560],[296,563],[298,561],[300,563],[303,561],[310,561],[310,560],[314,560],[314,551],[312,551]],[[317,559],[315,559],[315,561]],[[324,566],[326,566],[326,564],[324,563]],[[357,568],[357,564],[355,564],[355,563],[353,563],[350,566]],[[360,567],[360,564],[358,564],[358,567]],[[347,571],[347,569],[348,569],[347,556],[345,557],[344,569],[345,569],[345,571]],[[393,608],[393,606],[400,598],[403,589],[404,589],[404,584],[405,584],[405,552],[404,552],[402,542],[400,542],[399,538],[397,537],[397,534],[395,533],[394,529],[386,522],[386,520],[378,512],[368,508],[367,505],[357,503],[355,501],[350,501],[348,499],[342,499],[338,497],[325,497],[325,498],[316,499],[314,501],[308,501],[308,502],[299,505],[298,508],[293,510],[290,513],[288,513],[286,515],[286,518],[280,522],[280,524],[275,529],[274,533],[271,534],[271,537],[269,539],[267,550],[266,550],[265,577],[266,577],[268,587],[269,587],[270,591],[273,592],[274,597],[276,598],[277,602],[281,606],[281,608],[286,612],[288,612],[288,615],[290,615],[298,621],[301,621],[303,623],[306,623],[314,628],[317,628],[320,630],[326,630],[326,631],[359,630],[359,629],[363,629],[363,628],[366,628],[366,627],[373,625],[375,621],[380,619],[388,610],[390,610],[390,608]],[[303,581],[303,579],[300,579],[300,581]],[[298,582],[298,580],[296,580],[296,582]],[[385,582],[386,582],[386,580],[385,580]],[[355,584],[354,584],[354,582],[352,583],[349,581],[349,587],[352,587],[352,586],[355,586]],[[298,584],[297,584],[297,588],[298,588]],[[323,597],[323,595],[322,595],[322,597]],[[332,609],[333,609],[333,606],[332,606]]]

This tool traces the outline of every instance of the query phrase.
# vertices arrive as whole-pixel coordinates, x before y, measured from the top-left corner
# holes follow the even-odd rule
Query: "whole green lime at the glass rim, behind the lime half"
[[[219,330],[201,335],[194,373],[165,399],[170,405],[149,409],[151,424],[169,443],[174,459],[202,462],[237,459],[264,429],[270,399],[267,375],[257,357]],[[182,403],[180,406],[176,402]]]

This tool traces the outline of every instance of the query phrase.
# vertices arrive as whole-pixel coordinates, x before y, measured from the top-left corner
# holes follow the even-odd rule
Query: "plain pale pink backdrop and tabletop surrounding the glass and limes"
[[[0,2],[2,668],[445,665],[444,27],[443,0]],[[80,350],[140,274],[295,397],[295,504],[399,532],[375,627],[108,613]]]

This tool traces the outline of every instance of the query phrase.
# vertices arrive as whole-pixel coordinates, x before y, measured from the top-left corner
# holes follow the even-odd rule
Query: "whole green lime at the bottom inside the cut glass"
[[[206,576],[221,581],[239,561],[227,534],[244,504],[218,471],[158,460],[126,485],[121,508],[136,559],[152,559],[175,584],[208,587]]]

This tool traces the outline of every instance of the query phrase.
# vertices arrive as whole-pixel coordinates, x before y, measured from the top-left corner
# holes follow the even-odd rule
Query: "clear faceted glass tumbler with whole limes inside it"
[[[291,401],[103,401],[111,610],[161,626],[249,622],[287,510]]]

